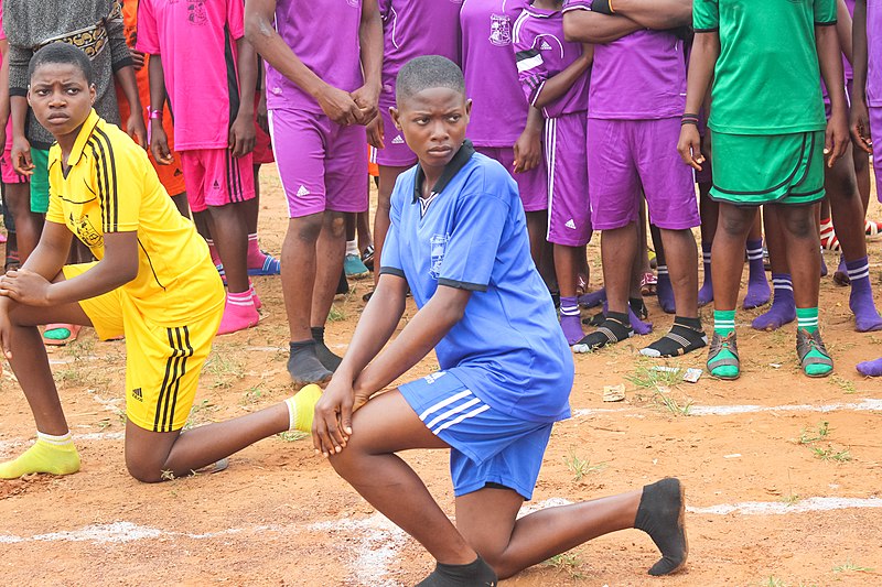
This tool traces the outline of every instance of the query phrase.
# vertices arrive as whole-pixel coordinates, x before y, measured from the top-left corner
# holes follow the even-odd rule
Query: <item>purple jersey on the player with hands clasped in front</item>
[[[358,32],[362,0],[278,0],[276,30],[294,55],[325,83],[344,91],[364,84]],[[315,98],[267,65],[267,108],[321,113]]]

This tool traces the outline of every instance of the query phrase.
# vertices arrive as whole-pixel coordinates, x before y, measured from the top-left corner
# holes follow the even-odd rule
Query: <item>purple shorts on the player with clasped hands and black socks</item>
[[[367,209],[367,134],[304,110],[269,112],[272,153],[288,198],[288,216]]]

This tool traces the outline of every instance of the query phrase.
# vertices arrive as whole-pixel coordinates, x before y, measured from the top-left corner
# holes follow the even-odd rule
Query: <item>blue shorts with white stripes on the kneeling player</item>
[[[455,370],[455,369],[454,369]],[[519,420],[481,401],[453,374],[439,371],[398,390],[432,434],[451,446],[456,497],[488,483],[533,497],[551,423]]]

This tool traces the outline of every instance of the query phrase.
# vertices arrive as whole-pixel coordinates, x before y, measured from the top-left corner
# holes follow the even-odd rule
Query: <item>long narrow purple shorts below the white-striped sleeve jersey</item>
[[[591,240],[585,112],[545,121],[548,169],[548,242],[583,247]]]

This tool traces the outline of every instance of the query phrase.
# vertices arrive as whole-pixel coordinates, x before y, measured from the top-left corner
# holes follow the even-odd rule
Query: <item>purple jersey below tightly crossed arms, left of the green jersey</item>
[[[570,1],[563,11],[590,10]],[[682,41],[665,31],[637,31],[594,45],[589,118],[652,120],[682,116],[686,57]]]

